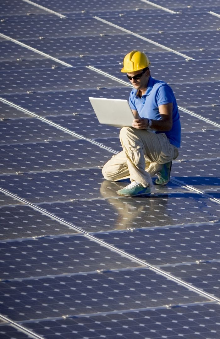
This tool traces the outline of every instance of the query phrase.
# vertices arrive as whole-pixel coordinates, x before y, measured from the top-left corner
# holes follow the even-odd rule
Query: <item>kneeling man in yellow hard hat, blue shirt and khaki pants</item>
[[[123,151],[103,166],[102,173],[111,181],[130,177],[131,183],[117,192],[122,196],[149,195],[156,173],[154,183],[167,184],[171,160],[179,154],[181,126],[175,96],[168,84],[151,77],[149,65],[144,53],[132,51],[121,69],[134,87],[129,105],[135,119],[132,127],[121,129]]]

